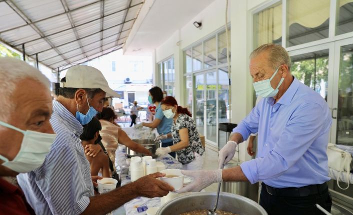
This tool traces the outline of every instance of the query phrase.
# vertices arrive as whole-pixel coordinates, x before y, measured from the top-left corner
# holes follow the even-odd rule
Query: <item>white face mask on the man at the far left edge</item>
[[[1,165],[17,173],[27,173],[40,167],[49,153],[50,147],[55,140],[56,134],[46,134],[36,131],[23,131],[7,123],[0,125],[21,132],[24,136],[16,157],[12,161],[0,155],[4,161]],[[10,143],[9,143],[10,144]]]

